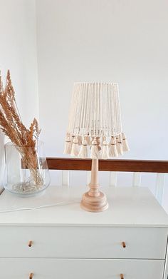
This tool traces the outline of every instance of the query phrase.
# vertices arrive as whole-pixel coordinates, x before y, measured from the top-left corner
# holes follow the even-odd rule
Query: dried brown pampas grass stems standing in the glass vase
[[[33,119],[30,128],[23,125],[16,105],[15,92],[9,71],[5,88],[0,75],[0,128],[14,143],[21,154],[23,166],[30,170],[33,181],[38,188],[41,188],[43,179],[38,171],[38,156],[36,153],[36,143],[41,130],[36,118]]]

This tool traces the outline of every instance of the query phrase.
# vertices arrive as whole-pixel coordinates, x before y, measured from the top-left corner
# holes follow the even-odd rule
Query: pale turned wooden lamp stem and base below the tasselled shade
[[[80,207],[90,212],[101,212],[108,208],[107,198],[99,191],[98,184],[98,159],[92,161],[90,190],[83,194]]]

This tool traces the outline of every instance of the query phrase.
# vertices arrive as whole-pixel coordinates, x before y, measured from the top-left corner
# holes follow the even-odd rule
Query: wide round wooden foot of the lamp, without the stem
[[[108,208],[107,198],[104,193],[98,196],[90,196],[89,191],[83,194],[80,207],[90,212],[101,212]]]

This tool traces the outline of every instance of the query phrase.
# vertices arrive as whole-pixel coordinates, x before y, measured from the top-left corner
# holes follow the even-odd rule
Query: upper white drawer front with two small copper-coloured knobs
[[[31,247],[28,247],[32,240]],[[125,242],[124,248],[122,242]],[[164,259],[166,228],[3,226],[0,258]]]

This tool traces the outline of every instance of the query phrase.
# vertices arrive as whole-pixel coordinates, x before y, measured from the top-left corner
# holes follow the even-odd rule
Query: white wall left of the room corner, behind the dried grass
[[[0,0],[0,70],[10,69],[23,123],[38,117],[36,6],[34,0]],[[4,136],[0,133],[0,173],[4,169]],[[0,186],[2,178],[0,177]]]

